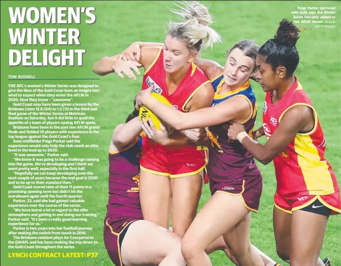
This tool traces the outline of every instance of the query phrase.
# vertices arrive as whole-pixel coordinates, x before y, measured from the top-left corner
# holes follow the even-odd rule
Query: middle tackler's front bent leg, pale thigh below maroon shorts
[[[187,265],[211,266],[206,248],[243,220],[247,212],[243,203],[235,196],[214,193],[199,211],[182,240],[181,251]],[[248,265],[263,265],[263,262]]]

